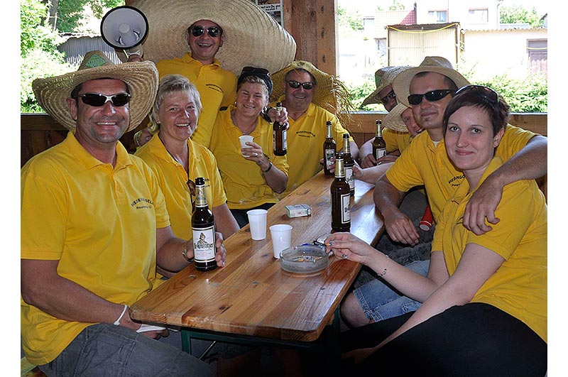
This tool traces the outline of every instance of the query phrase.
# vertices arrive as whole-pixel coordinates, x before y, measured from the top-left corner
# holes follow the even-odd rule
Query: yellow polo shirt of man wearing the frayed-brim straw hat
[[[300,118],[294,120],[288,118],[288,185],[285,192],[279,197],[285,197],[293,192],[296,187],[316,175],[323,166],[320,160],[323,158],[323,145],[327,136],[326,122],[332,121],[333,138],[337,145],[337,151],[343,148],[343,134],[349,133],[337,116],[326,109],[310,104],[306,112]],[[353,138],[349,136],[349,141]]]

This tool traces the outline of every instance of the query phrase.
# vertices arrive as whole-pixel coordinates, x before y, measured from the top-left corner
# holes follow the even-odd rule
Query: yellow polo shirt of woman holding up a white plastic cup
[[[233,105],[225,111],[219,111],[209,146],[219,165],[227,205],[230,209],[249,209],[265,203],[276,203],[278,197],[264,180],[261,168],[241,155],[239,136],[243,133],[231,120],[232,109]],[[272,149],[272,124],[258,116],[258,124],[251,136],[255,143],[262,146],[263,153],[268,155],[274,167],[288,174],[286,156],[275,155]]]

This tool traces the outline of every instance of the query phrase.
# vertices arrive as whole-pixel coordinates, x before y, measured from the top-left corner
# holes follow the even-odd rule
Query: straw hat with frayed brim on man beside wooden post
[[[315,78],[316,86],[312,103],[337,113],[349,113],[353,109],[353,105],[350,102],[351,94],[349,94],[349,89],[347,89],[345,84],[332,75],[318,70],[311,62],[304,60],[294,60],[272,75],[274,89],[271,95],[271,102],[278,101],[283,96],[284,79],[286,74],[292,70],[305,70],[310,72],[310,75]]]

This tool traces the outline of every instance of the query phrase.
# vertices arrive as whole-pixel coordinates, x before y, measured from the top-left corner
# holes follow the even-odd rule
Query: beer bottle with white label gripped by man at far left
[[[213,212],[207,205],[205,196],[205,180],[195,179],[195,211],[191,217],[193,233],[193,253],[197,271],[211,271],[217,268],[215,261],[215,222]]]

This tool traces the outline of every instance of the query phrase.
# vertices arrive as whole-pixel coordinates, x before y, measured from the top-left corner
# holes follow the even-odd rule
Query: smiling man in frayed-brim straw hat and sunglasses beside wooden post
[[[342,82],[303,60],[291,62],[272,77],[271,100],[283,103],[290,124],[286,154],[290,167],[288,186],[282,195],[285,196],[322,170],[326,121],[332,121],[334,140],[341,148],[343,134],[349,131],[330,111],[349,109],[349,92]],[[353,158],[357,158],[359,148],[353,138],[349,138],[349,148]]]

